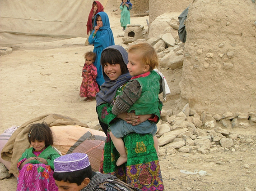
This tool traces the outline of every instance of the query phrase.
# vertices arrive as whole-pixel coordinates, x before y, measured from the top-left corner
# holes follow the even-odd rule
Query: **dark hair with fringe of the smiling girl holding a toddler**
[[[126,74],[128,72],[127,65],[125,64],[122,54],[117,49],[105,49],[101,53],[100,63],[102,68],[104,68],[104,64],[113,63],[119,64],[121,68],[122,74]]]

